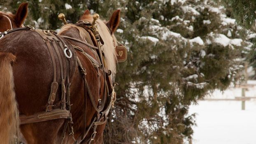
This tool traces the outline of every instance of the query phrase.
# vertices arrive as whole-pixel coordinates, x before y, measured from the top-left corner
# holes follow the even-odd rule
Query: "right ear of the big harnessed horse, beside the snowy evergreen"
[[[114,33],[114,32],[116,31],[117,27],[119,26],[119,22],[120,22],[120,10],[118,9],[118,10],[116,10],[116,11],[112,14],[110,20],[107,22],[106,25],[107,25],[109,28],[111,28],[112,33]]]

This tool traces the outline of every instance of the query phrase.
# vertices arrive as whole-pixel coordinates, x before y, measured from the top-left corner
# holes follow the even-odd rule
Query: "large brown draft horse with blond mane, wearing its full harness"
[[[1,143],[15,143],[19,130],[28,144],[103,142],[126,51],[113,34],[120,11],[95,20],[86,10],[58,35],[32,27],[0,34]]]

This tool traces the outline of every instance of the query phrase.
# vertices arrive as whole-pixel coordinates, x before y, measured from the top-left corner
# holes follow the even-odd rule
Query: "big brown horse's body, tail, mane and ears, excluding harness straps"
[[[81,16],[83,21],[92,23],[93,18],[88,10]],[[116,51],[118,45],[113,33],[119,25],[120,11],[115,11],[106,23],[100,19],[96,21],[100,38],[104,41],[103,52],[105,65],[111,70],[112,81],[116,73]],[[58,35],[69,36],[87,42],[84,28],[67,24],[61,28]],[[3,144],[12,144],[23,134],[28,144],[73,144],[90,127],[96,111],[93,108],[83,81],[83,75],[77,64],[77,57],[86,69],[87,84],[96,105],[103,98],[104,77],[103,71],[95,69],[91,61],[72,47],[79,46],[91,57],[98,59],[90,47],[81,42],[62,39],[73,54],[70,62],[70,102],[74,130],[67,130],[63,137],[63,130],[67,119],[60,118],[50,121],[28,123],[19,126],[19,114],[33,115],[45,111],[50,86],[53,79],[53,63],[47,46],[35,30],[21,30],[5,35],[0,39],[0,141]],[[57,65],[57,75],[60,75]],[[64,72],[65,73],[65,72]],[[61,84],[61,78],[57,78]],[[58,89],[55,106],[60,104],[61,90]],[[86,116],[86,117],[85,117]],[[103,121],[103,120],[102,120]],[[103,130],[105,123],[96,127],[96,135],[91,143],[103,143]],[[70,132],[74,132],[74,137]],[[90,139],[93,130],[89,130],[85,139]],[[86,144],[83,140],[79,143]]]

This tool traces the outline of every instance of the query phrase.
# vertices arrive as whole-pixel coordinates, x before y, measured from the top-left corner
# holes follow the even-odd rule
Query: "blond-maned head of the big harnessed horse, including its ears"
[[[80,20],[84,20],[92,23],[93,16],[90,14],[90,11],[87,9],[84,12],[83,16],[81,16]],[[114,32],[119,26],[119,21],[120,21],[120,10],[116,10],[112,14],[108,22],[102,21],[100,19],[96,21],[99,34],[104,41],[104,49],[105,49],[104,54],[105,54],[107,68],[112,71],[113,75],[116,73],[115,47],[118,46],[118,42],[116,40],[116,37],[114,36]]]

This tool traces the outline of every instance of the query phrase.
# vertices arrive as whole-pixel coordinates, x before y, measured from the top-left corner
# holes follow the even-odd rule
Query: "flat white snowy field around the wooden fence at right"
[[[210,98],[235,98],[241,88],[230,88],[224,93],[215,91]],[[255,97],[256,87],[249,88],[246,96]],[[196,113],[193,144],[256,144],[256,99],[241,101],[202,100],[190,107]]]

